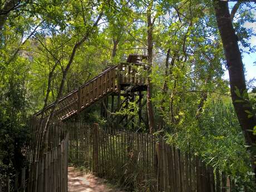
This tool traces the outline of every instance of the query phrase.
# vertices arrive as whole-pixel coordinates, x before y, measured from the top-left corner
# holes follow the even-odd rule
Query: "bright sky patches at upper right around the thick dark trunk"
[[[229,4],[230,8],[232,8],[233,6],[234,6],[234,3]],[[256,10],[256,8],[254,10]],[[256,18],[256,14],[254,14],[254,17]],[[253,28],[254,33],[256,33],[256,22],[254,23],[246,22],[244,24],[244,27]],[[253,36],[252,38],[250,38],[249,42],[252,43],[252,46],[256,46],[256,36]],[[249,81],[252,78],[256,78],[256,64],[254,64],[254,62],[256,62],[256,53],[250,53],[250,54],[243,53],[245,79],[247,81]],[[225,71],[223,78],[229,79],[228,70]],[[256,86],[256,82],[254,82],[253,85]]]

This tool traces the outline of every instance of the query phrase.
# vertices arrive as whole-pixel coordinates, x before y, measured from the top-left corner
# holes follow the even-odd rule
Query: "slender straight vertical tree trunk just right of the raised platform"
[[[154,111],[152,106],[152,83],[151,83],[151,72],[152,72],[152,59],[153,59],[153,24],[151,22],[151,9],[153,1],[150,2],[149,7],[147,7],[147,116],[149,117],[149,129],[150,132],[154,131],[155,120]]]

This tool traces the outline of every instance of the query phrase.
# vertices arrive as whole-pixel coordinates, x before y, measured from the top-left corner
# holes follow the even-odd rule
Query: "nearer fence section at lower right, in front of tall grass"
[[[235,187],[225,173],[205,165],[199,156],[183,153],[163,139],[156,143],[159,191],[225,192]],[[227,183],[228,181],[228,183]]]

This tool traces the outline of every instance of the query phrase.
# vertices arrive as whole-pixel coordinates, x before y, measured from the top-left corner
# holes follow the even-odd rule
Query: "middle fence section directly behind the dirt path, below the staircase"
[[[152,135],[99,130],[96,124],[81,122],[71,123],[68,132],[70,163],[86,166],[99,176],[119,180],[131,188],[145,180],[155,183],[155,137]]]

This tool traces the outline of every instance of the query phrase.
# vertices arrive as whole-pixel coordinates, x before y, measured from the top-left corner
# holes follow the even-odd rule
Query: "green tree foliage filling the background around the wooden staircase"
[[[181,149],[194,150],[207,163],[234,177],[238,175],[237,184],[246,183],[250,179],[249,153],[228,99],[228,81],[223,80],[226,63],[212,2],[153,1],[151,100],[155,119],[162,127],[166,124],[170,142]],[[95,33],[75,54],[63,95],[106,67],[125,61],[130,53],[146,55],[145,10],[149,4],[150,1],[126,0],[19,1],[4,20],[4,3],[0,4],[1,170],[12,172],[16,168],[16,151],[27,137],[26,116],[56,100],[73,46],[91,31],[100,13],[103,16]],[[249,53],[254,52],[249,43],[254,32],[244,24],[255,21],[252,8],[252,3],[243,2],[233,20],[242,51]],[[137,70],[147,77],[144,68]],[[249,97],[253,111],[248,111],[248,117],[254,118],[255,93]],[[113,112],[109,119],[101,117],[99,105],[81,116],[102,124],[115,124],[117,116],[135,116],[133,125],[127,127],[138,125],[136,130],[147,131],[147,125],[137,116],[138,99],[136,95],[134,101],[124,103],[124,110]],[[237,102],[243,99],[241,96]],[[142,107],[145,122],[146,112]],[[256,127],[254,130],[256,134]]]

